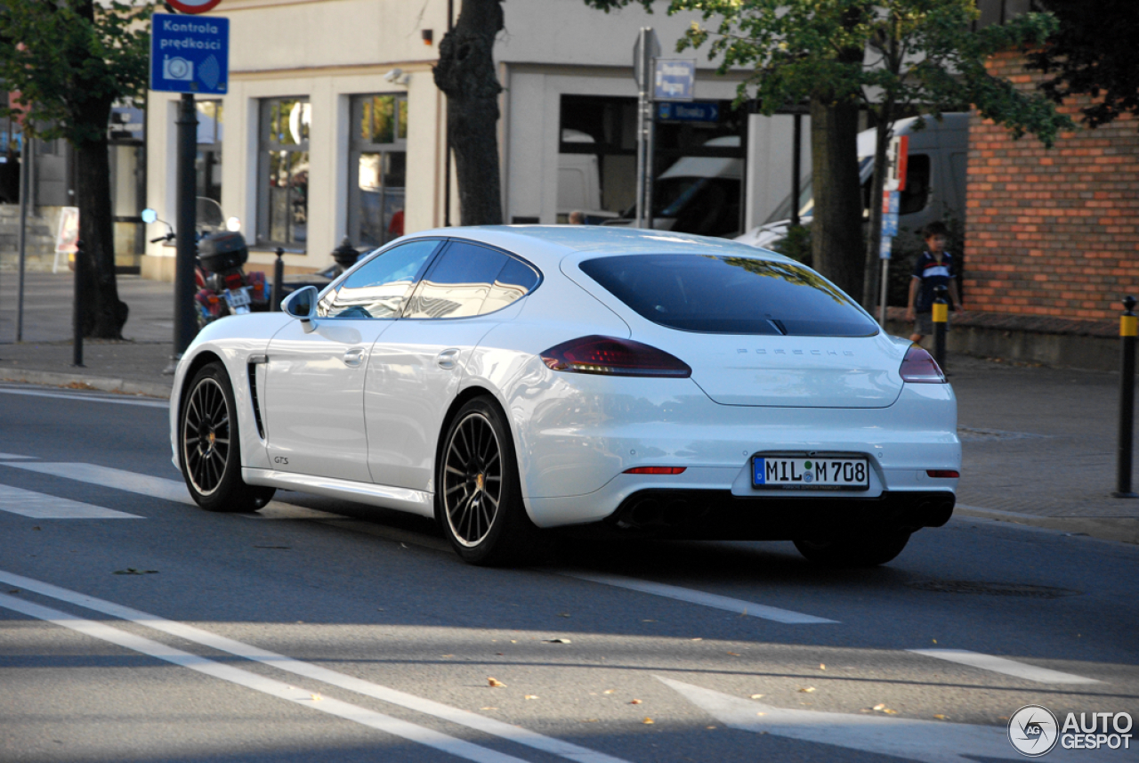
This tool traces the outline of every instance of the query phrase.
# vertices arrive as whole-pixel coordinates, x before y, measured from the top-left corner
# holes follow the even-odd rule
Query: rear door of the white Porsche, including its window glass
[[[440,428],[472,351],[538,280],[499,249],[461,240],[443,249],[372,348],[364,383],[372,481],[433,490]]]

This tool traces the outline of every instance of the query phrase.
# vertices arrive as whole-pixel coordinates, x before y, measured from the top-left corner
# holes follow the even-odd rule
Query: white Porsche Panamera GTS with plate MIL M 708
[[[280,487],[411,511],[474,564],[575,525],[883,564],[949,520],[961,459],[929,354],[818,273],[623,228],[403,237],[207,326],[170,410],[203,508]]]

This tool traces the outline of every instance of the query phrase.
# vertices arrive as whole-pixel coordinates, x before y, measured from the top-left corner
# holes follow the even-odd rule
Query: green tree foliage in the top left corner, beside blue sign
[[[33,106],[28,128],[105,140],[110,105],[146,92],[153,13],[153,2],[0,0],[0,79]]]

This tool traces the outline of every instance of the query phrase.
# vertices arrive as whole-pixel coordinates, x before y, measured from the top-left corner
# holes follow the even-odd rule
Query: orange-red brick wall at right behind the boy
[[[990,72],[1024,90],[1042,79],[1016,54]],[[1060,110],[1079,123],[1087,98]],[[1063,133],[1051,149],[969,121],[965,306],[973,311],[1104,319],[1139,296],[1139,124],[1130,115]]]

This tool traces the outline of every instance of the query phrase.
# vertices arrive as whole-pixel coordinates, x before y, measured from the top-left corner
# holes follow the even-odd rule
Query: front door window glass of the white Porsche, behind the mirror
[[[440,246],[437,240],[409,241],[372,257],[345,279],[318,314],[328,318],[396,318],[416,279]]]

